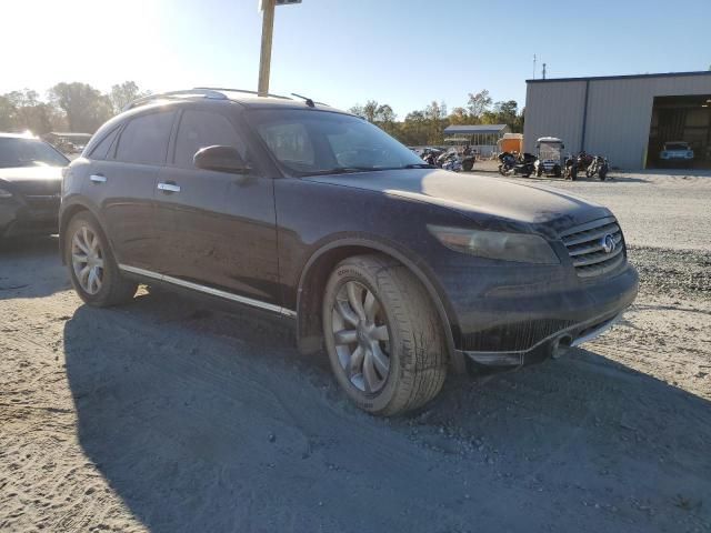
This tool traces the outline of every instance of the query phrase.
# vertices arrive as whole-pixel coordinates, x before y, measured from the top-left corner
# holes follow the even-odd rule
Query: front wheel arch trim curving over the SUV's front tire
[[[329,242],[318,249],[307,261],[299,278],[297,292],[297,343],[302,354],[316,353],[323,344],[321,305],[323,290],[336,265],[346,258],[380,253],[403,264],[422,283],[440,318],[447,340],[450,362],[457,372],[463,372],[464,360],[455,350],[454,338],[459,326],[448,312],[443,291],[433,281],[433,274],[414,258],[393,245],[367,238],[344,238]]]

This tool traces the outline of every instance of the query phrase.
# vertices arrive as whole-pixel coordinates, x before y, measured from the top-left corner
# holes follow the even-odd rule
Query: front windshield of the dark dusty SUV
[[[304,109],[248,117],[279,163],[297,175],[429,167],[380,128],[349,114]]]

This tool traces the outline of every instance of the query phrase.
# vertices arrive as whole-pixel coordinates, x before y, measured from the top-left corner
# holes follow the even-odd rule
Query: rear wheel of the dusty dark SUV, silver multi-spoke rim
[[[89,212],[82,211],[69,221],[64,231],[63,242],[64,260],[69,268],[71,283],[79,298],[86,303],[97,308],[107,308],[127,303],[133,299],[138,283],[121,275],[101,227]],[[78,242],[82,245],[80,247]],[[94,243],[94,245],[89,247],[89,242]],[[87,253],[87,249],[91,253]],[[87,261],[76,262],[74,254],[87,258]],[[89,274],[87,274],[87,281],[83,281],[83,276],[80,275],[84,263],[86,268],[90,269]],[[98,283],[91,282],[92,270],[94,270],[93,279],[99,278]],[[82,280],[80,280],[80,276]]]

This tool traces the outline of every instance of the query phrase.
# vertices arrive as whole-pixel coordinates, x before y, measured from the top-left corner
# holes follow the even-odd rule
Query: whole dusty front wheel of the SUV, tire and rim
[[[370,306],[369,299],[374,302]],[[351,304],[353,300],[361,302],[361,312]],[[349,312],[350,322],[344,318]],[[392,416],[424,405],[440,392],[447,376],[442,324],[429,294],[402,264],[383,255],[341,261],[327,283],[322,316],[331,369],[350,400],[363,411]],[[357,325],[352,319],[358,319]],[[369,324],[374,324],[371,331],[381,331],[373,334],[378,340],[363,333]],[[343,334],[340,343],[336,331]],[[374,355],[375,350],[380,356]],[[383,355],[387,366],[378,365]],[[349,372],[346,369],[351,364],[354,370]]]

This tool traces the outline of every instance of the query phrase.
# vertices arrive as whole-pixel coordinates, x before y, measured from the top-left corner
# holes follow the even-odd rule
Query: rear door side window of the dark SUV
[[[116,159],[128,163],[163,164],[174,114],[173,111],[158,112],[131,120],[121,133]]]

